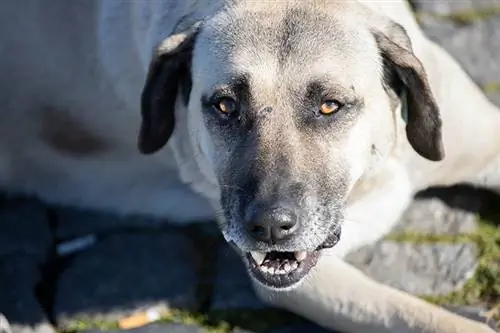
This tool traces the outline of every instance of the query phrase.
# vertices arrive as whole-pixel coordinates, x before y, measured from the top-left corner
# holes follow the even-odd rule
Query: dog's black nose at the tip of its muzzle
[[[299,223],[292,209],[259,209],[251,214],[248,232],[257,241],[277,243],[287,240],[297,232]]]

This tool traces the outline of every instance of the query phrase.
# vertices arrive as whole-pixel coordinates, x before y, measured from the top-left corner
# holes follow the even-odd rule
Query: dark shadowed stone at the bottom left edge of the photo
[[[29,198],[0,198],[0,313],[12,333],[53,333],[35,288],[53,243],[45,207]]]

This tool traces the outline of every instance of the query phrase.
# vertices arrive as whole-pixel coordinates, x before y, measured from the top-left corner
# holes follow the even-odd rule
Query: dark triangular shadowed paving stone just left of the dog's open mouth
[[[229,245],[218,251],[212,309],[262,309],[267,307],[252,289],[245,265]]]

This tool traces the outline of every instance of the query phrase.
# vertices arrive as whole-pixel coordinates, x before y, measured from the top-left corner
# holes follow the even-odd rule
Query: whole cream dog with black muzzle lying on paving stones
[[[500,112],[393,1],[0,3],[0,185],[217,219],[259,297],[344,332],[493,332],[344,256],[500,188]]]

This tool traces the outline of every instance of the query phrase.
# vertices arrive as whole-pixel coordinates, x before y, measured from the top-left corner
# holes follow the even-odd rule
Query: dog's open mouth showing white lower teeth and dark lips
[[[274,289],[290,288],[302,281],[316,266],[321,251],[334,247],[340,240],[340,227],[312,252],[248,252],[244,260],[250,276]]]

